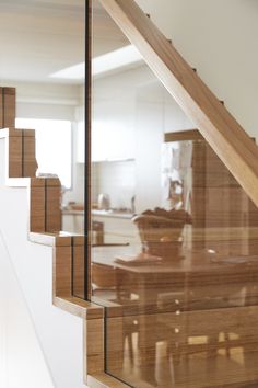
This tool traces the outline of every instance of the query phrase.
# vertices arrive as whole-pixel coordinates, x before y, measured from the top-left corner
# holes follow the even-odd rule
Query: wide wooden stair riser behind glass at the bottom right
[[[172,365],[173,373],[156,374],[157,386],[256,387],[258,335],[249,326],[257,327],[257,317],[256,306],[120,318],[124,330],[133,319],[142,321],[145,332],[151,335],[133,342],[132,365],[126,364],[126,352],[124,367],[116,369],[114,365],[109,372],[133,387],[143,387],[144,379],[151,381],[155,370],[163,370],[167,364]],[[117,320],[108,320],[107,331]],[[120,347],[124,349],[124,343]]]

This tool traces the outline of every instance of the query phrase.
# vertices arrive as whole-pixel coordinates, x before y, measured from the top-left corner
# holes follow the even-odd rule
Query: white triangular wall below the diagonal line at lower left
[[[0,231],[0,386],[54,388]]]

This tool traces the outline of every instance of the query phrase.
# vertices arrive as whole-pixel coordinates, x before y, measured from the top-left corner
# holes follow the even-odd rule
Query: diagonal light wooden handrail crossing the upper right
[[[258,206],[258,147],[133,0],[101,0]]]

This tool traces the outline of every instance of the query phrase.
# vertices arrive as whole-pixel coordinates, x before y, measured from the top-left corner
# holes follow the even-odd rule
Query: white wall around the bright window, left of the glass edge
[[[79,153],[84,155],[84,139],[81,140],[79,132],[79,123],[84,119],[83,87],[17,81],[1,82],[1,85],[16,88],[16,117],[72,122],[73,181],[72,189],[64,194],[63,203],[83,202],[84,166],[78,163]]]

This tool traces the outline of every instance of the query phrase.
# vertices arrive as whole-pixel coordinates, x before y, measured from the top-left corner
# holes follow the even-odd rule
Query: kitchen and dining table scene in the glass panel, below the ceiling
[[[112,50],[121,33],[106,23]],[[106,373],[133,387],[255,387],[258,210],[194,128],[143,62],[93,78],[92,300],[106,307]]]

